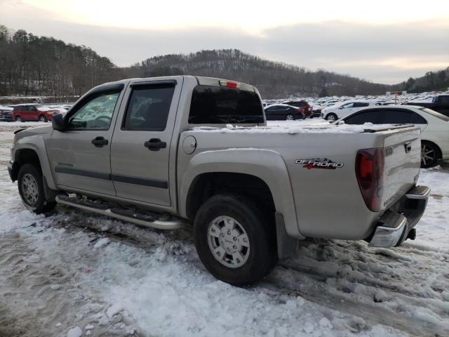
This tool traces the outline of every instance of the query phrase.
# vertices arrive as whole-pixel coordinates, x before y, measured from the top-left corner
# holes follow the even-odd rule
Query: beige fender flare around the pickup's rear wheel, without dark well
[[[282,214],[288,236],[295,239],[304,239],[297,223],[287,166],[278,152],[238,148],[205,151],[196,154],[187,164],[180,180],[181,216],[187,217],[187,197],[195,178],[203,173],[213,172],[244,173],[260,178],[272,192],[276,213]]]

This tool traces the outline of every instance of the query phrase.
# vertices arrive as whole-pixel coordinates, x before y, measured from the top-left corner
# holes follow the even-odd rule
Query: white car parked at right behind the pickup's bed
[[[421,128],[421,167],[429,168],[440,161],[449,160],[449,117],[426,107],[370,107],[359,110],[342,121],[344,124],[415,124]]]

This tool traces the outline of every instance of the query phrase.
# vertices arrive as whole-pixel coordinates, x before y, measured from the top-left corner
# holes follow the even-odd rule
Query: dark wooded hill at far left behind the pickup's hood
[[[0,25],[0,95],[81,95],[122,77],[91,48]]]

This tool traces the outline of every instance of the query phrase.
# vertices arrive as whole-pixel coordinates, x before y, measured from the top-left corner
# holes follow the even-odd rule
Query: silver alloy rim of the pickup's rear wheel
[[[218,216],[208,227],[209,249],[218,262],[241,267],[250,256],[250,241],[242,225],[230,216]]]

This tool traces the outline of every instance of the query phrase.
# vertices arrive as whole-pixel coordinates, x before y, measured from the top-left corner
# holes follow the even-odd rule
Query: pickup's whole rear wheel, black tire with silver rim
[[[210,197],[194,220],[194,241],[203,265],[229,284],[260,281],[278,259],[276,231],[269,218],[244,197]]]

